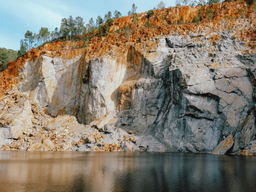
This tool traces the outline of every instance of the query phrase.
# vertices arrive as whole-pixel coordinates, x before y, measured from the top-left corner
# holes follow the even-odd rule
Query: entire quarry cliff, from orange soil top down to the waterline
[[[202,22],[190,23],[199,9]],[[114,150],[256,154],[253,6],[235,1],[138,16],[136,25],[132,16],[115,20],[107,36],[89,43],[49,43],[10,63],[0,74],[2,148],[116,144]],[[181,16],[184,23],[173,24]],[[147,21],[153,26],[143,27]],[[90,134],[95,144],[83,148]]]

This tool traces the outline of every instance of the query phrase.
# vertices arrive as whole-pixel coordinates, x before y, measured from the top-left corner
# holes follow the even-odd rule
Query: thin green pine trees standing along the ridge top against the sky
[[[181,5],[190,5],[190,6],[200,6],[205,4],[219,3],[221,0],[175,0],[176,6]],[[164,2],[159,2],[157,8],[155,9],[164,9],[166,4]],[[136,15],[137,6],[133,3],[131,9],[128,11],[127,15]],[[95,29],[98,30],[98,33],[101,35],[107,33],[110,29],[110,24],[117,18],[122,16],[121,12],[115,10],[112,14],[111,11],[108,11],[102,18],[98,16],[94,21],[93,18],[90,18],[88,23],[85,25],[83,18],[77,16],[73,18],[69,16],[68,18],[61,19],[60,29],[56,27],[53,31],[49,31],[47,27],[41,27],[38,33],[33,33],[32,31],[26,31],[24,39],[20,40],[20,50],[18,50],[18,57],[23,56],[27,51],[32,48],[43,45],[45,42],[50,40],[74,40],[74,37],[79,37],[85,33],[94,33]],[[135,20],[136,17],[133,17]],[[103,24],[106,25],[103,27]]]

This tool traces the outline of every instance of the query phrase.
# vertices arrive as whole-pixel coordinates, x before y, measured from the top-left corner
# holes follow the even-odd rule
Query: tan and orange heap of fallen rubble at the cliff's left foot
[[[13,103],[17,106],[24,106],[27,103],[26,119],[25,116],[19,114],[24,110],[9,110],[9,105]],[[12,104],[10,104],[12,103]],[[8,105],[9,104],[9,105]],[[55,118],[48,116],[43,112],[42,108],[35,103],[31,103],[27,96],[19,93],[13,93],[11,96],[5,96],[0,100],[0,112],[6,114],[12,111],[10,119],[6,119],[4,115],[0,116],[1,125],[12,125],[10,127],[0,127],[0,149],[2,150],[28,150],[28,151],[51,151],[51,150],[79,150],[79,151],[131,151],[130,141],[135,150],[138,148],[134,143],[139,138],[128,136],[126,132],[120,128],[106,124],[97,129],[96,126],[81,125],[77,123],[74,116],[57,116]],[[30,109],[30,111],[29,111]],[[16,117],[16,118],[15,118]],[[22,121],[31,122],[32,125],[25,127],[19,124],[17,132],[14,123],[20,118]],[[14,121],[14,123],[13,123]],[[7,123],[8,122],[8,123]],[[29,124],[30,125],[30,124]],[[102,130],[101,130],[102,129]],[[13,138],[12,133],[18,133]],[[125,142],[121,144],[122,142]],[[123,145],[123,147],[121,147]]]

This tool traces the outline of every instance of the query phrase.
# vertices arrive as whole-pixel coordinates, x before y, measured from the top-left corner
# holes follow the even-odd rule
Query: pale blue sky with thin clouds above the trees
[[[0,47],[18,50],[20,40],[27,30],[38,33],[40,27],[52,31],[60,27],[61,19],[70,15],[81,16],[85,24],[92,17],[103,17],[108,11],[117,9],[127,15],[131,4],[144,12],[161,0],[0,0]],[[166,7],[174,6],[175,0],[162,0]]]

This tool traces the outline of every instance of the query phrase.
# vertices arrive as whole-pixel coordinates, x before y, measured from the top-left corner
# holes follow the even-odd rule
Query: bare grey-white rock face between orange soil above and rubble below
[[[230,31],[151,41],[157,47],[128,47],[126,63],[111,54],[89,63],[84,56],[42,56],[20,71],[20,92],[52,116],[135,129],[167,150],[212,152],[230,134],[238,146],[231,153],[249,146],[256,134],[256,54],[246,54]]]

